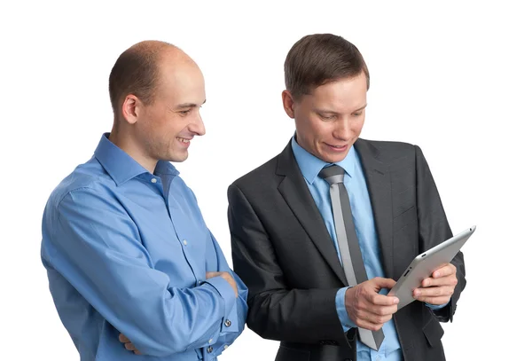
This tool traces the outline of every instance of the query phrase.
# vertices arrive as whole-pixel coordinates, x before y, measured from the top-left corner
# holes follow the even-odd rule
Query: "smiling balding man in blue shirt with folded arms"
[[[242,333],[247,289],[170,161],[205,134],[203,75],[184,51],[143,42],[109,76],[114,122],[51,193],[42,260],[89,360],[215,360]]]

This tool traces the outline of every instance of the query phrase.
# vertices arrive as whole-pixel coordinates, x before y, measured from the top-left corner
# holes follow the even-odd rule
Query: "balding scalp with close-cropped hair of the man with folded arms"
[[[115,121],[121,114],[121,103],[129,94],[146,105],[153,103],[160,84],[160,68],[168,64],[173,67],[197,67],[184,51],[171,43],[144,41],[121,53],[109,75],[109,96]]]

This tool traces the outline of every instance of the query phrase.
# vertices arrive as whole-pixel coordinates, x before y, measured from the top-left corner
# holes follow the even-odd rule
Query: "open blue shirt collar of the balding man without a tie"
[[[100,138],[98,147],[94,151],[94,156],[102,167],[106,169],[109,176],[113,178],[116,185],[123,184],[141,174],[149,173],[128,153],[114,145],[109,140],[109,133],[104,133]],[[177,176],[179,172],[169,161],[158,161],[154,174]]]

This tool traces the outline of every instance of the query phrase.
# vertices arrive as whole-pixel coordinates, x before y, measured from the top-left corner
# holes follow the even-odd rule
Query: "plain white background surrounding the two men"
[[[355,43],[370,69],[363,137],[421,146],[453,232],[478,227],[444,325],[448,359],[532,359],[526,2],[106,3],[0,8],[0,359],[79,359],[48,291],[40,223],[53,187],[111,129],[107,78],[121,51],[164,40],[203,70],[207,135],[176,166],[231,261],[227,186],[292,136],[283,63],[301,36],[322,32]],[[273,360],[277,346],[246,329],[220,359]]]

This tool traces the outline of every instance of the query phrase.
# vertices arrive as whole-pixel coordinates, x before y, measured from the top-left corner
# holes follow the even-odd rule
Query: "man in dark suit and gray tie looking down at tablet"
[[[423,153],[359,138],[370,76],[340,36],[301,38],[285,80],[293,138],[228,191],[247,325],[281,341],[279,361],[444,360],[438,321],[452,320],[465,287],[463,255],[403,309],[387,295],[415,256],[452,236]]]

